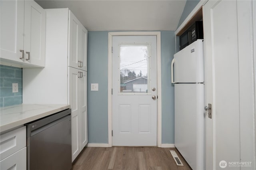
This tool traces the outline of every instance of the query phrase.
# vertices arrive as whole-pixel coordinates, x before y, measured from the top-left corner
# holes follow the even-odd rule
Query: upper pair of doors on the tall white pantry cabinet
[[[68,66],[87,71],[87,30],[71,11],[69,18]]]

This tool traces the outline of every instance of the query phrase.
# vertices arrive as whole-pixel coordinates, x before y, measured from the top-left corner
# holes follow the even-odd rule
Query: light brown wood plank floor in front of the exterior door
[[[169,150],[175,150],[184,166],[177,166]],[[176,148],[86,147],[72,170],[190,170]]]

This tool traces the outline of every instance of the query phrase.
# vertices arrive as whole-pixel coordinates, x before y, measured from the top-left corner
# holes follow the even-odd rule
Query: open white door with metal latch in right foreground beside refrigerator
[[[208,1],[203,16],[206,169],[255,169],[252,1]]]

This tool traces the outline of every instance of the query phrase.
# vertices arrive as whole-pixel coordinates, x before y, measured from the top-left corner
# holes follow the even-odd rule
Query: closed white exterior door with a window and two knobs
[[[113,36],[112,47],[112,144],[156,146],[156,36]]]

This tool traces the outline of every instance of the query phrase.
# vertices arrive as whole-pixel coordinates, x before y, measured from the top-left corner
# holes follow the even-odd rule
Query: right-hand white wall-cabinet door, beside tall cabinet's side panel
[[[46,12],[32,0],[24,9],[24,62],[44,67]]]

